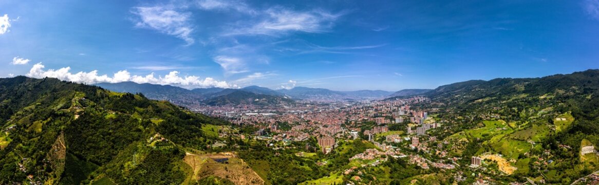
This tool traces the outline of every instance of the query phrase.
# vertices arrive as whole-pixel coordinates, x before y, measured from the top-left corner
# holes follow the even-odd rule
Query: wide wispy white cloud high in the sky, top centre
[[[340,14],[323,10],[294,11],[283,7],[273,7],[262,11],[264,18],[251,25],[240,25],[225,35],[278,35],[287,32],[328,32]]]

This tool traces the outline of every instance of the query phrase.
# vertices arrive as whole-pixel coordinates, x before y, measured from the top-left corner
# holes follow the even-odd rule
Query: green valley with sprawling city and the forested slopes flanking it
[[[599,169],[596,77],[589,70],[374,101],[201,109],[52,78],[2,78],[1,89],[17,93],[0,93],[0,181],[572,183]]]

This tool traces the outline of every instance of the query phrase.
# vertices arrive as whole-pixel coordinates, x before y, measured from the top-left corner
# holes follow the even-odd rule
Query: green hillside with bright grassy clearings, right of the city
[[[599,70],[465,81],[425,95],[431,101],[415,107],[443,120],[446,130],[435,137],[449,143],[450,156],[510,161],[512,175],[495,180],[570,184],[599,170],[599,155],[580,152],[599,146]]]

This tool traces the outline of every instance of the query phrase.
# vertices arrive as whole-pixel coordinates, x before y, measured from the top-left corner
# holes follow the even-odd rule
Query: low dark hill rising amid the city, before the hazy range
[[[271,105],[291,105],[295,104],[291,98],[285,96],[262,95],[244,90],[235,90],[222,96],[216,96],[204,101],[207,105],[256,105],[256,106],[271,106]]]

